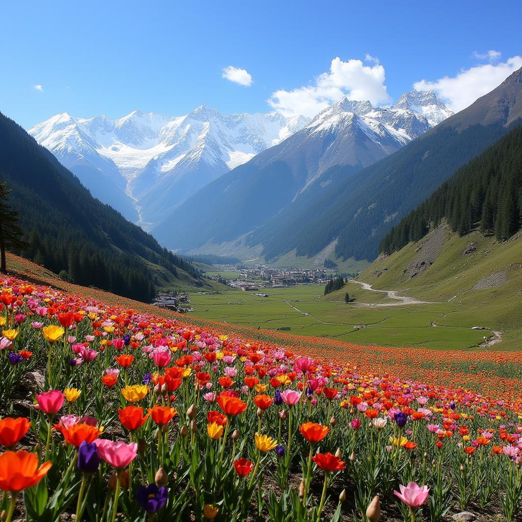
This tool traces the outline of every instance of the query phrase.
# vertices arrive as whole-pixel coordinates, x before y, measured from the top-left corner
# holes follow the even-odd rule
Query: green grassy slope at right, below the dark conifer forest
[[[462,252],[471,241],[475,243],[477,250],[463,255]],[[424,274],[408,280],[402,271],[417,257],[417,246],[418,244],[410,243],[391,256],[379,257],[371,267],[362,272],[358,279],[372,284],[376,289],[404,290],[404,295],[436,302],[430,305],[395,307],[396,312],[411,310],[412,319],[425,315],[426,326],[434,322],[437,326],[432,327],[429,336],[432,336],[435,330],[440,333],[438,335],[443,335],[443,330],[449,330],[455,338],[458,338],[473,326],[483,326],[502,331],[502,343],[496,345],[495,349],[507,350],[521,347],[522,236],[515,236],[512,240],[499,244],[493,238],[484,237],[477,232],[462,238],[450,235],[433,265]],[[386,271],[383,271],[385,268]],[[483,277],[503,270],[508,279],[503,286],[471,290]],[[344,289],[328,296],[328,299],[341,300],[350,288],[352,287],[345,286]],[[361,290],[354,291],[353,294],[359,292]],[[371,292],[372,295],[369,296],[368,293],[370,292],[364,293],[364,298],[360,302],[372,298],[371,302],[378,302],[375,296],[379,294]],[[448,300],[455,295],[456,298],[448,303]],[[382,311],[379,309],[371,311],[378,320]],[[406,317],[403,319],[404,324],[399,326],[412,329],[408,328]],[[396,320],[399,321],[399,317]],[[392,323],[388,321],[388,324]],[[478,337],[484,335],[483,331],[476,334]]]

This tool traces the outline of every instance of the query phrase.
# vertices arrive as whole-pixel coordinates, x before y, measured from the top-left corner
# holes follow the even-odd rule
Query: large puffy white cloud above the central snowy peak
[[[367,55],[369,56],[369,55]],[[384,85],[382,65],[363,65],[361,60],[331,61],[330,70],[315,79],[315,85],[291,91],[278,90],[268,103],[284,116],[315,116],[331,103],[347,96],[350,100],[370,100],[374,105],[391,101]]]

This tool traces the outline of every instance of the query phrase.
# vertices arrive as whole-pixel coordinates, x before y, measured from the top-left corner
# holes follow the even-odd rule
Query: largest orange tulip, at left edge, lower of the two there
[[[18,452],[5,452],[0,455],[0,489],[18,493],[32,488],[45,477],[51,462],[38,467],[38,456],[21,449]]]

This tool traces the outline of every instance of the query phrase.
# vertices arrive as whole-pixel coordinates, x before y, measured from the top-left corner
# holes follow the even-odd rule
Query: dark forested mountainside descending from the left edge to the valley
[[[201,284],[197,270],[152,236],[94,199],[74,174],[0,113],[0,181],[30,243],[15,252],[62,274],[141,301],[155,293],[151,264]]]

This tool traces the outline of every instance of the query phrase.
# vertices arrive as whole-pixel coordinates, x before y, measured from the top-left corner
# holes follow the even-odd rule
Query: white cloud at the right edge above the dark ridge
[[[435,91],[449,109],[458,112],[498,87],[520,67],[522,67],[522,56],[517,55],[495,65],[483,64],[462,69],[453,78],[445,76],[434,81],[417,81],[413,84],[413,88],[419,91]]]

